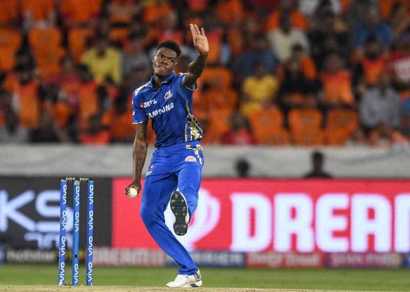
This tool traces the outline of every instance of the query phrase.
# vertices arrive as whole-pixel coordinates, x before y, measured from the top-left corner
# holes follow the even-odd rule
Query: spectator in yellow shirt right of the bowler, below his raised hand
[[[265,64],[256,63],[254,74],[243,80],[241,113],[249,117],[252,111],[269,106],[274,101],[278,87],[278,80],[267,73]]]

